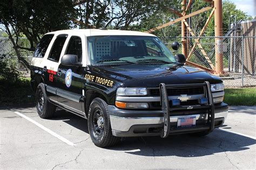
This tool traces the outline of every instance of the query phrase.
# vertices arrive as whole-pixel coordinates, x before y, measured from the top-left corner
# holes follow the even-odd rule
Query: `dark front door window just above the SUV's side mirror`
[[[66,50],[67,55],[77,55],[80,62],[82,57],[82,41],[80,37],[72,36],[69,40],[69,46]]]

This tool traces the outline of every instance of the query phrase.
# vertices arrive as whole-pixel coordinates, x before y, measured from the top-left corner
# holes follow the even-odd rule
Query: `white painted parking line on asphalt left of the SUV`
[[[65,142],[65,143],[68,144],[68,145],[75,146],[75,144],[73,144],[73,143],[72,143],[71,141],[69,141],[68,139],[65,139],[65,138],[63,138],[62,136],[58,135],[57,133],[55,133],[55,132],[49,130],[49,128],[44,127],[43,125],[37,123],[35,120],[33,120],[33,119],[29,118],[29,117],[26,117],[24,114],[19,113],[19,112],[14,112],[14,113],[20,115],[21,117],[25,118],[26,120],[29,120],[31,123],[33,123],[33,124],[37,125],[38,127],[42,128],[42,130],[44,130],[44,131],[50,133],[51,135],[53,135],[53,137],[58,138],[59,140]]]

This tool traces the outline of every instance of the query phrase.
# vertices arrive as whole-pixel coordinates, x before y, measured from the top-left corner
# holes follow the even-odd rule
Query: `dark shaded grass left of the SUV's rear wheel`
[[[24,105],[35,102],[30,87],[30,78],[21,78],[16,82],[0,79],[0,106]]]

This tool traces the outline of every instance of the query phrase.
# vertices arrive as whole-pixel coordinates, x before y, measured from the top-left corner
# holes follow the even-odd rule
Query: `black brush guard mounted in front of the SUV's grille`
[[[208,119],[207,119],[207,124],[208,126],[208,132],[212,132],[214,129],[214,103],[213,103],[213,97],[212,97],[212,92],[211,92],[211,85],[208,81],[205,81],[204,83],[201,84],[186,84],[186,85],[165,85],[164,83],[161,83],[159,85],[160,89],[160,105],[161,105],[161,110],[164,113],[164,127],[161,130],[161,138],[166,138],[168,137],[170,133],[170,115],[173,111],[177,110],[184,110],[184,107],[170,107],[169,99],[168,99],[168,94],[167,94],[167,89],[166,88],[177,88],[177,87],[188,87],[188,86],[198,86],[204,87],[204,95],[205,97],[208,98],[208,104],[205,104],[203,106],[193,106],[193,108],[207,108],[207,114],[208,114]]]

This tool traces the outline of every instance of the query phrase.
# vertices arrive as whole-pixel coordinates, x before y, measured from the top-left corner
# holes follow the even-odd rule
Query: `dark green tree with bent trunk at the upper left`
[[[41,36],[49,31],[70,28],[76,10],[70,0],[2,0],[0,24],[14,47],[19,62],[30,68],[20,50],[34,51]],[[21,46],[19,37],[28,38],[30,46]]]

